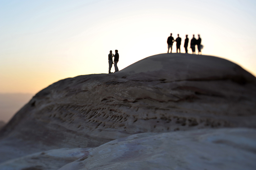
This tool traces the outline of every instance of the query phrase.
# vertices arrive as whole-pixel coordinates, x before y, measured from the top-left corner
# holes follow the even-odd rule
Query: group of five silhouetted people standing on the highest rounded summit
[[[176,38],[176,40],[174,40],[172,35],[173,34],[171,33],[171,36],[169,36],[167,39],[167,44],[168,44],[167,53],[169,53],[170,48],[171,48],[171,53],[172,53],[174,41],[176,41],[177,53],[180,53],[181,37],[179,37],[179,34],[178,34],[178,37]],[[185,39],[185,43],[184,43],[184,48],[185,48],[186,53],[187,53],[187,47],[188,47],[188,41],[189,41],[187,36],[188,35],[186,35],[186,39]],[[195,35],[193,34],[193,38],[190,41],[190,48],[191,48],[193,54],[195,54],[195,45],[197,45],[198,54],[201,54],[202,45],[201,45],[201,38],[200,38],[199,34],[198,34],[198,39],[195,39]]]

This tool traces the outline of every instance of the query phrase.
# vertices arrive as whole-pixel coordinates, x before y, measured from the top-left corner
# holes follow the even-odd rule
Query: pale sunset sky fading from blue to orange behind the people
[[[121,70],[166,53],[171,32],[182,53],[185,35],[200,33],[203,54],[256,75],[255,9],[255,0],[0,0],[0,93],[35,94],[60,79],[108,73],[115,49]]]

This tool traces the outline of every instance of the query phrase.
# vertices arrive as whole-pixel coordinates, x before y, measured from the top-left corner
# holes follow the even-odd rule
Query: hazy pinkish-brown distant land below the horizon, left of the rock
[[[0,121],[8,122],[32,97],[29,93],[0,93]]]

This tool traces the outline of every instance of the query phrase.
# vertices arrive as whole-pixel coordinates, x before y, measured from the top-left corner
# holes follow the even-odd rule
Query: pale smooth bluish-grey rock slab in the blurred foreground
[[[75,161],[64,165],[71,160]],[[229,128],[135,134],[94,149],[59,149],[28,155],[2,163],[0,169],[254,170],[255,160],[256,130]]]

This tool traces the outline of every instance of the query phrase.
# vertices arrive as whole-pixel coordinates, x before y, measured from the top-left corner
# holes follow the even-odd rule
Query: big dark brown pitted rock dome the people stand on
[[[146,132],[255,128],[256,78],[222,58],[158,54],[53,83],[1,130],[0,161]]]

